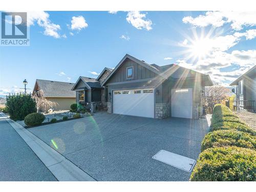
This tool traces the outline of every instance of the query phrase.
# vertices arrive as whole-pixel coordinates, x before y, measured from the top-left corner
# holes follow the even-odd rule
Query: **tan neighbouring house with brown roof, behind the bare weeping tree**
[[[70,110],[70,105],[76,102],[76,92],[72,91],[74,83],[36,79],[33,94],[44,91],[44,97],[55,101],[58,105],[53,110]]]

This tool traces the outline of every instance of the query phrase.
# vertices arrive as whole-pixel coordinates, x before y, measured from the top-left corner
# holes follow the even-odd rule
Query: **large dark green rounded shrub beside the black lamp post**
[[[24,120],[27,115],[36,112],[36,102],[30,94],[12,94],[6,96],[6,108],[14,121]]]

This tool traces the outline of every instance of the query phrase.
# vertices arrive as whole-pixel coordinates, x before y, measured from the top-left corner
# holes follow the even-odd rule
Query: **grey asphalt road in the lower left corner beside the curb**
[[[0,181],[56,181],[0,112]]]

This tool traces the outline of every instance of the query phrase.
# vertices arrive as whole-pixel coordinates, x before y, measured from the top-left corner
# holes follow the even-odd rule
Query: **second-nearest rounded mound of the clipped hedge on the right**
[[[201,151],[210,147],[239,146],[256,150],[256,137],[235,130],[219,130],[208,133],[201,145]]]

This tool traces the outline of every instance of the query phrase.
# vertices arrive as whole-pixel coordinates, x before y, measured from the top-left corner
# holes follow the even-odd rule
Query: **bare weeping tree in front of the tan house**
[[[44,113],[48,113],[48,110],[59,105],[55,101],[49,101],[44,97],[44,91],[39,90],[34,92],[32,98],[35,99],[37,111],[41,110]]]

